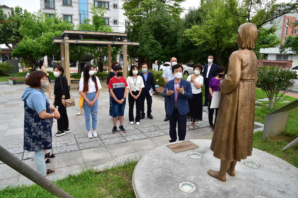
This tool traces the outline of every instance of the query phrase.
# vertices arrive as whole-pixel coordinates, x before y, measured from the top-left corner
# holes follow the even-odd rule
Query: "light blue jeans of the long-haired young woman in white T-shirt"
[[[96,92],[93,93],[86,93],[86,97],[88,98],[89,101],[94,100],[96,95]],[[83,109],[85,112],[85,125],[86,125],[86,130],[90,131],[90,115],[92,117],[92,129],[96,129],[97,125],[97,108],[98,108],[98,99],[94,103],[92,107],[89,107],[87,102],[84,100],[83,104]]]

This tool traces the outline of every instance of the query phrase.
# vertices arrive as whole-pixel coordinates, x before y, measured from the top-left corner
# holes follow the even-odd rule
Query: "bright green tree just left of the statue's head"
[[[223,0],[201,1],[202,21],[185,30],[196,46],[215,51],[219,66],[222,63],[222,51],[235,47],[238,25],[234,17],[225,9]]]

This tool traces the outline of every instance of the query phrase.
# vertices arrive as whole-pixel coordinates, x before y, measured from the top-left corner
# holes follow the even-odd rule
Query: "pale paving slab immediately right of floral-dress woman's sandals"
[[[51,165],[53,168],[59,168],[59,167],[84,163],[81,153],[78,150],[57,154],[56,157],[52,158],[51,160],[52,162],[49,163],[49,165]]]

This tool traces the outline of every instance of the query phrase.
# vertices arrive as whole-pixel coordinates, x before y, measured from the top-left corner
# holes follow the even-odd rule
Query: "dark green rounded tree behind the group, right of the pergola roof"
[[[140,28],[140,47],[138,54],[152,63],[155,60],[165,62],[177,55],[175,47],[178,38],[178,30],[182,20],[174,18],[165,12],[161,4],[156,10],[151,11]]]

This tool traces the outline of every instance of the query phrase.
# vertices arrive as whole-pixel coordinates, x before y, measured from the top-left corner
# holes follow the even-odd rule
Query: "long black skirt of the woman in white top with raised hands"
[[[188,99],[189,113],[187,114],[187,120],[192,122],[193,118],[196,121],[202,121],[203,117],[203,95],[201,93],[193,94],[191,99]]]

